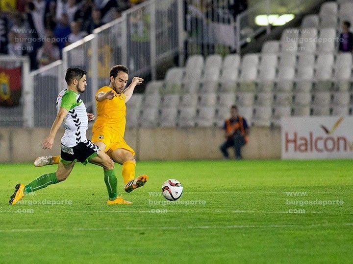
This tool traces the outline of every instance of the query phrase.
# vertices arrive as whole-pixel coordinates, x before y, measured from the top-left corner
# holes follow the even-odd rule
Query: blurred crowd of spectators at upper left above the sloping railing
[[[31,69],[37,69],[60,59],[66,45],[143,1],[0,0],[0,53],[28,55]]]

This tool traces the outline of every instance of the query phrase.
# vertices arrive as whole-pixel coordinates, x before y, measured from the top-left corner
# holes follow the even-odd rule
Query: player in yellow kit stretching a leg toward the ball
[[[97,120],[93,125],[91,141],[104,150],[114,162],[123,165],[125,191],[130,193],[148,180],[147,175],[135,178],[135,152],[124,140],[126,102],[130,100],[136,85],[141,84],[143,79],[134,77],[129,87],[125,89],[128,69],[122,65],[110,69],[109,79],[109,86],[104,86],[96,92]],[[40,167],[56,164],[58,161],[59,156],[39,157],[34,165]]]

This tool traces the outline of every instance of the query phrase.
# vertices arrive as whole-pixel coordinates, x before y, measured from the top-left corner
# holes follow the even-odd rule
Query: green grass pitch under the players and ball
[[[76,164],[65,182],[8,205],[16,183],[55,169],[0,165],[0,263],[353,260],[351,160],[138,162],[149,181],[114,206],[102,169]],[[168,178],[184,186],[179,204],[160,195]],[[48,200],[64,204],[39,204]]]

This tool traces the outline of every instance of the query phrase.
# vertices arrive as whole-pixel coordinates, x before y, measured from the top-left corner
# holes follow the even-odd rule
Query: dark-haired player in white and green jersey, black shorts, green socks
[[[114,162],[86,137],[88,117],[86,107],[79,93],[87,86],[86,71],[79,67],[70,67],[66,71],[65,81],[68,88],[61,91],[56,100],[57,116],[50,129],[49,136],[43,142],[43,149],[51,149],[55,135],[64,124],[65,133],[61,138],[61,158],[56,172],[39,176],[26,186],[19,183],[10,197],[9,203],[16,204],[26,194],[64,181],[74,168],[76,160],[86,165],[88,162],[104,169],[104,181],[108,190],[108,204],[130,204],[117,195],[117,178]]]

